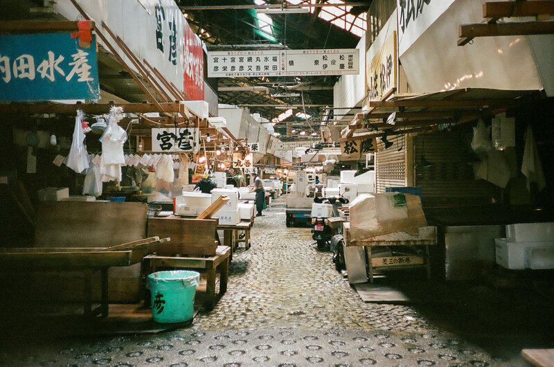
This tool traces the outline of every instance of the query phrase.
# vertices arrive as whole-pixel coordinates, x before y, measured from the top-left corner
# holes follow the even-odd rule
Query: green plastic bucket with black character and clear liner
[[[152,318],[157,323],[181,323],[194,315],[197,271],[157,271],[148,276],[152,301]]]

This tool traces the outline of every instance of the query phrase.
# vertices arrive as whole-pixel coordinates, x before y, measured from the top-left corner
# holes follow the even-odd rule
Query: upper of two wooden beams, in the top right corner
[[[554,15],[554,1],[498,1],[483,4],[483,18]]]

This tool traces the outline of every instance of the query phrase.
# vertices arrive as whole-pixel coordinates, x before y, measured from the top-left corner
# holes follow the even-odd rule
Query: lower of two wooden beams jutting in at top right
[[[494,37],[516,35],[551,35],[554,33],[554,21],[521,21],[499,24],[461,24],[459,37]]]

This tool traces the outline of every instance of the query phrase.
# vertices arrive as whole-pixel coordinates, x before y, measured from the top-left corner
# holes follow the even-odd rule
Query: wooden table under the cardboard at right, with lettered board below
[[[407,267],[426,267],[427,278],[431,278],[429,246],[437,244],[436,226],[421,227],[418,235],[411,235],[406,232],[395,232],[386,235],[378,235],[364,241],[350,240],[350,222],[343,222],[342,229],[345,246],[364,247],[371,283],[373,283],[373,274],[375,271],[406,269]],[[408,255],[372,258],[371,249],[377,246],[425,246],[425,256]]]

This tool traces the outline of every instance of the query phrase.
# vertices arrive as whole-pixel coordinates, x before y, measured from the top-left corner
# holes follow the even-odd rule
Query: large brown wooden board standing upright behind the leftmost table
[[[112,247],[141,240],[146,212],[142,203],[42,202],[35,247]]]

